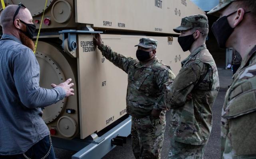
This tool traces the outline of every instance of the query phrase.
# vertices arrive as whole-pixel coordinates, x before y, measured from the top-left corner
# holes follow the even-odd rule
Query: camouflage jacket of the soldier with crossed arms
[[[172,110],[171,130],[177,142],[202,145],[212,128],[211,107],[219,89],[218,71],[205,45],[182,62],[175,80],[165,83],[165,101]],[[191,93],[192,99],[187,100]]]

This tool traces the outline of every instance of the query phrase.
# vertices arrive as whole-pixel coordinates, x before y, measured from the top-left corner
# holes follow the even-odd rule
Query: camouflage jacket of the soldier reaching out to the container
[[[152,109],[167,110],[163,98],[163,84],[175,78],[169,66],[157,58],[142,64],[137,59],[113,52],[106,45],[100,45],[98,48],[103,56],[128,74],[128,114],[140,118],[151,114]]]

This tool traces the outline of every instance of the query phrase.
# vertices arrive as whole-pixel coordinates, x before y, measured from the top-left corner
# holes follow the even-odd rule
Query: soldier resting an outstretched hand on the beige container
[[[136,56],[139,60],[114,52],[102,43],[97,34],[95,45],[115,66],[128,74],[127,113],[132,116],[131,138],[136,159],[160,159],[165,132],[167,107],[163,99],[163,84],[175,75],[155,54],[157,41],[139,40]]]

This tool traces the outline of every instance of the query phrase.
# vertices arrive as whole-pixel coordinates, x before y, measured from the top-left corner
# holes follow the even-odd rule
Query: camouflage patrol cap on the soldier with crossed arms
[[[181,25],[173,29],[173,31],[175,31],[176,33],[180,33],[181,31],[186,31],[194,27],[209,28],[208,18],[204,14],[197,14],[193,16],[183,17],[181,19]]]

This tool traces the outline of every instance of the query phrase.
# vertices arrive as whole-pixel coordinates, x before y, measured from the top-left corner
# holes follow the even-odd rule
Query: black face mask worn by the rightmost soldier
[[[226,42],[230,35],[233,33],[234,28],[232,28],[228,23],[228,17],[232,14],[236,13],[237,11],[228,14],[227,16],[223,16],[218,21],[215,21],[212,24],[212,32],[218,42],[218,46],[220,48],[226,48]],[[250,12],[250,11],[249,11]],[[245,12],[249,13],[249,12]]]

